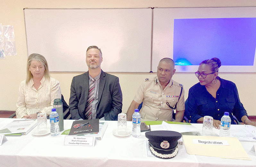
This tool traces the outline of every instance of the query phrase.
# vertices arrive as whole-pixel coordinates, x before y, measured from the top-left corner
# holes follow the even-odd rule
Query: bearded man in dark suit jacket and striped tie
[[[119,79],[103,72],[101,62],[101,50],[90,46],[86,51],[88,72],[73,77],[71,83],[69,110],[72,119],[117,120],[122,112]]]

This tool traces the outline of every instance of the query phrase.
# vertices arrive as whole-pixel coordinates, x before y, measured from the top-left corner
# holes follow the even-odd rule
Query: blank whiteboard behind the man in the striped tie
[[[24,9],[28,55],[51,72],[84,72],[86,49],[102,51],[105,72],[150,72],[152,9]]]

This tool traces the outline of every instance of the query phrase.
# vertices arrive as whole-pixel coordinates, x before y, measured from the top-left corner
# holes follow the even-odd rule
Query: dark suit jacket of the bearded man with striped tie
[[[89,72],[73,77],[70,88],[69,110],[72,119],[84,117],[89,92]],[[118,77],[101,70],[98,88],[98,106],[96,118],[117,120],[122,112],[122,91]]]

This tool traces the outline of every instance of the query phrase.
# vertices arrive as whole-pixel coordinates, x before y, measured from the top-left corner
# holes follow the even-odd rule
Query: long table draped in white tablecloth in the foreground
[[[13,119],[16,118],[0,118],[0,123],[12,121]],[[70,129],[73,121],[64,120],[64,130]],[[256,155],[255,152],[251,151],[256,142],[241,141],[245,152],[252,160],[190,155],[186,152],[185,146],[180,144],[178,144],[177,156],[172,159],[160,159],[154,156],[147,156],[145,132],[142,132],[139,138],[134,138],[132,135],[117,137],[112,133],[117,128],[117,121],[107,122],[108,126],[103,138],[96,140],[94,147],[64,146],[64,137],[66,135],[51,136],[47,134],[34,136],[31,133],[33,130],[27,135],[6,136],[7,141],[0,146],[0,166],[256,166]],[[192,125],[199,129],[202,128],[202,124]],[[127,128],[132,129],[131,121],[127,121]],[[213,131],[219,133],[218,129],[214,128]]]

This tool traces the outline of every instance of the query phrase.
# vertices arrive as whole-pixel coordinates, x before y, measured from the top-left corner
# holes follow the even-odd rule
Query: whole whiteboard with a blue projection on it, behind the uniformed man
[[[154,8],[153,15],[153,72],[157,71],[158,62],[162,58],[170,57],[175,61],[175,54],[177,52],[182,53],[185,55],[185,57],[192,57],[193,61],[198,59],[199,63],[205,59],[218,57],[222,62],[219,72],[256,72],[256,7]],[[184,21],[185,19],[190,19],[189,21],[193,19],[193,21],[195,21],[193,27],[186,27],[186,22]],[[221,28],[207,32],[207,26],[209,28],[213,26],[208,24],[202,28],[199,23],[203,21],[201,20],[201,22],[197,22],[198,19],[206,19],[203,21],[225,19],[224,27],[226,26],[234,32],[229,36],[227,34],[230,30],[226,30],[226,32],[224,31],[224,33],[219,35],[218,31],[222,31]],[[236,19],[241,19],[242,21],[238,21],[237,24],[231,24],[230,20],[234,21]],[[244,20],[246,22],[249,19],[251,19],[250,24],[243,23]],[[175,29],[175,21],[184,21],[178,30]],[[217,23],[220,22],[217,21]],[[216,27],[220,26],[218,25]],[[238,29],[239,27],[241,30]],[[195,33],[196,35],[192,37],[191,34],[196,32],[196,29],[199,31],[199,33]],[[238,29],[237,32],[235,32],[236,29]],[[182,45],[180,50],[175,50],[175,42],[182,38],[182,32],[189,32],[189,35],[185,36],[183,40],[180,41]],[[244,34],[240,34],[241,32]],[[248,34],[248,32],[250,33]],[[201,35],[200,33],[205,33],[206,35]],[[238,34],[240,34],[240,36]],[[216,36],[218,35],[219,38],[217,39]],[[209,38],[204,38],[205,36],[209,36]],[[202,38],[204,39],[201,40]],[[238,44],[235,45],[236,43]],[[226,49],[224,47],[224,49],[221,50],[220,48],[222,45],[225,46]],[[200,48],[201,50],[197,50],[198,52],[193,52],[196,50],[195,48]],[[237,52],[234,52],[236,49]],[[246,58],[248,58],[249,55],[247,55],[248,52],[244,51],[248,49],[250,49],[248,52],[250,52],[251,59],[248,59],[247,61]],[[232,51],[233,53],[230,54]],[[236,63],[235,65],[230,65],[230,62],[228,62],[232,58],[236,61],[234,62]],[[199,63],[198,65],[187,66],[175,65],[176,72],[196,72],[198,70]],[[241,65],[242,63],[245,65]]]

